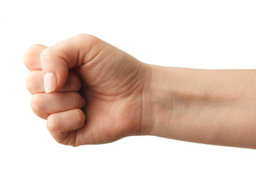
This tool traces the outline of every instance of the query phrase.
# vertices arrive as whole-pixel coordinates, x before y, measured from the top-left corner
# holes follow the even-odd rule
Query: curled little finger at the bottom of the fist
[[[50,114],[47,128],[57,142],[76,146],[76,130],[84,125],[85,119],[86,115],[78,109]]]

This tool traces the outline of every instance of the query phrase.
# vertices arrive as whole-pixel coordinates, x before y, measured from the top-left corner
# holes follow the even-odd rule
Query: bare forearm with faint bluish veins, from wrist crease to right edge
[[[152,66],[148,134],[256,148],[256,70]]]

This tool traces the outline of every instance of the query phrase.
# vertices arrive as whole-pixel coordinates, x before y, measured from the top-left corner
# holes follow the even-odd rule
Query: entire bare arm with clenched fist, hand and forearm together
[[[154,135],[256,148],[255,70],[149,65],[88,34],[31,46],[24,62],[31,107],[59,143]]]

